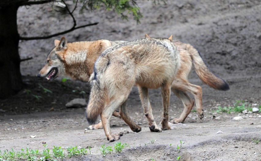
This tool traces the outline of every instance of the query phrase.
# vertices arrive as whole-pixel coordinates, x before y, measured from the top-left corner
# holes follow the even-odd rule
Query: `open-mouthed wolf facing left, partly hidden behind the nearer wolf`
[[[146,35],[146,38],[149,38]],[[124,41],[83,41],[67,43],[66,38],[61,41],[55,40],[55,48],[51,50],[47,57],[46,65],[38,74],[39,77],[46,77],[48,81],[54,80],[58,76],[67,76],[75,80],[87,82],[93,72],[93,65],[96,59],[108,47],[122,43]],[[179,97],[184,105],[182,114],[177,119],[172,119],[172,123],[183,122],[190,113],[194,101],[186,92],[192,93],[195,97],[196,110],[199,118],[203,118],[202,112],[202,89],[200,86],[188,82],[187,77],[191,71],[192,64],[202,82],[217,90],[229,90],[228,84],[215,76],[206,67],[199,52],[190,44],[174,41],[180,54],[180,69],[172,83],[172,92]],[[174,83],[175,82],[175,83]],[[114,116],[120,117],[119,112],[114,112]],[[102,122],[96,125],[90,125],[89,129],[102,128]]]

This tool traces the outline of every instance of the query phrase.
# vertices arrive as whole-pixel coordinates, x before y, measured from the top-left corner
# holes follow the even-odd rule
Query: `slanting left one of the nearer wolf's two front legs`
[[[148,89],[145,87],[138,86],[138,90],[140,93],[140,98],[142,102],[142,107],[144,110],[144,114],[147,118],[149,129],[152,132],[161,132],[161,128],[159,128],[154,120],[154,117],[152,115],[152,109],[149,103],[149,95],[148,95]]]

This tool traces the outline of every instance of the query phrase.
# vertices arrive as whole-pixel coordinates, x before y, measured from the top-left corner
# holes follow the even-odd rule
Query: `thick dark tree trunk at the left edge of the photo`
[[[18,6],[0,6],[0,98],[22,89],[17,31]]]

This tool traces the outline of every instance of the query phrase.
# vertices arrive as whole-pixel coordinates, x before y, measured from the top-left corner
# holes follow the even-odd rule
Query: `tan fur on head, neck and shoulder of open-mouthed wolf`
[[[55,40],[55,48],[47,56],[47,63],[40,70],[39,77],[46,77],[54,67],[55,76],[67,76],[74,80],[88,81],[93,65],[99,55],[115,44],[109,40],[83,41],[67,43],[66,38]],[[53,78],[53,79],[55,79]]]

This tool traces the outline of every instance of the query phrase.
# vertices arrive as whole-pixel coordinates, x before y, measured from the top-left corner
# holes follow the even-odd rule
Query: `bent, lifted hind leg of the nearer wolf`
[[[130,129],[134,132],[140,132],[141,127],[138,126],[132,119],[130,119],[130,116],[127,111],[127,100],[121,105],[120,112],[119,112],[121,118],[130,126]]]

